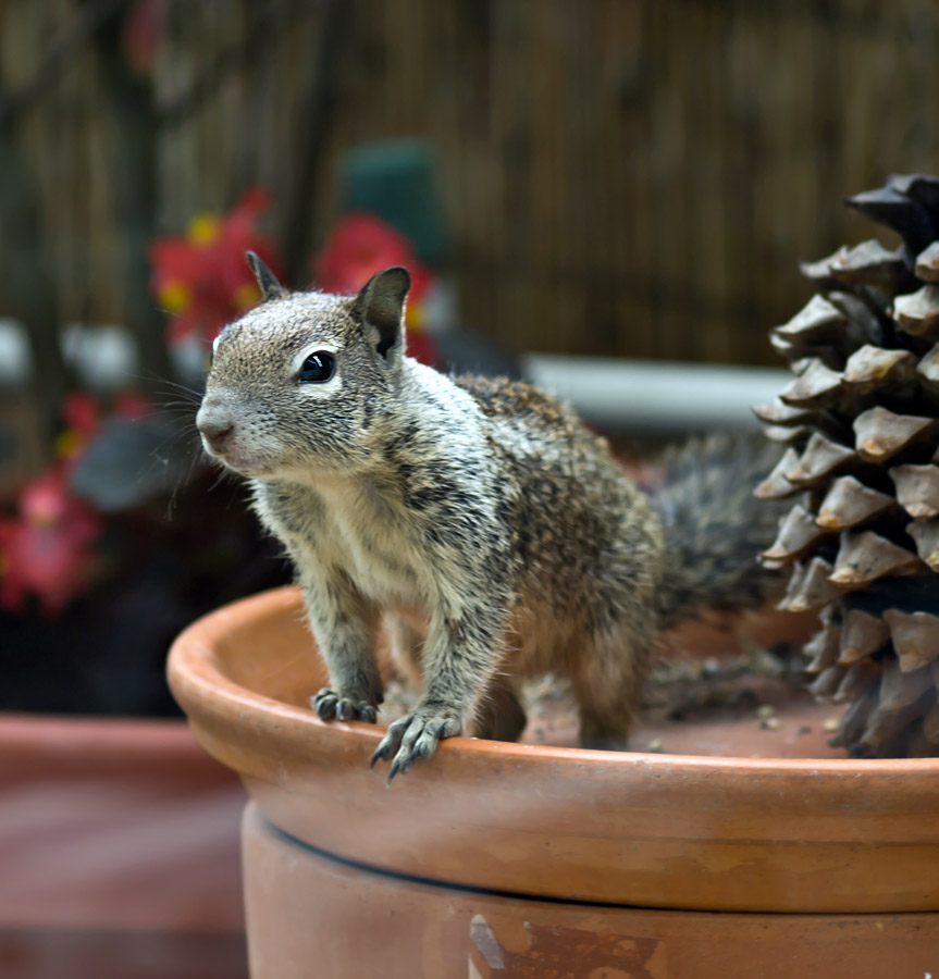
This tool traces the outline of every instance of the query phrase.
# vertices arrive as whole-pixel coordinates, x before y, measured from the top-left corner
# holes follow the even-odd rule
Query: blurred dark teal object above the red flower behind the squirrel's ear
[[[437,154],[417,140],[370,142],[339,158],[342,213],[371,211],[407,235],[429,265],[446,258],[446,235],[437,193]]]

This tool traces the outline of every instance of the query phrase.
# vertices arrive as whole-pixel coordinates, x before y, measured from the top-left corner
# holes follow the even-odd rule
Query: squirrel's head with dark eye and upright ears
[[[206,451],[265,480],[369,467],[400,384],[407,270],[351,297],[289,293],[248,262],[262,302],[215,339],[196,416]]]

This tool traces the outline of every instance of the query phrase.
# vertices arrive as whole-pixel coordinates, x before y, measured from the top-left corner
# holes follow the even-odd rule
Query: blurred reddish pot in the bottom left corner
[[[0,976],[245,976],[242,808],[183,721],[0,715]]]

